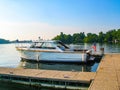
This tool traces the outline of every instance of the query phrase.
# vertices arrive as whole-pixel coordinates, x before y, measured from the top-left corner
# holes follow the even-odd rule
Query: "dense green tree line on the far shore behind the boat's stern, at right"
[[[120,29],[109,30],[106,33],[102,31],[99,34],[87,33],[84,32],[71,34],[64,34],[63,32],[60,35],[57,35],[53,40],[61,40],[66,44],[79,44],[79,43],[120,43]]]

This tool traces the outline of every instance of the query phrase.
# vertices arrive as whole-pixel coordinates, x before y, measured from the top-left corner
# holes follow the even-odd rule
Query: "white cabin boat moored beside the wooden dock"
[[[21,58],[44,62],[86,62],[88,51],[81,52],[68,47],[58,40],[38,40],[30,46],[17,46]]]

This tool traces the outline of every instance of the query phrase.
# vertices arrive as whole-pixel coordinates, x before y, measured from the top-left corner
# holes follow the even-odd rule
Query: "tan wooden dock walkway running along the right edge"
[[[105,54],[89,90],[120,90],[120,54]]]

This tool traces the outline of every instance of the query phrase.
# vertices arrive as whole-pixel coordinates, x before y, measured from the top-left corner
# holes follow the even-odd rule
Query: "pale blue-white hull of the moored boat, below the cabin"
[[[87,54],[75,52],[34,52],[22,50],[21,58],[47,62],[86,62]]]

